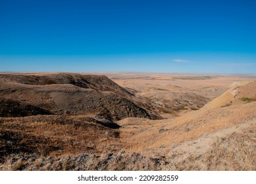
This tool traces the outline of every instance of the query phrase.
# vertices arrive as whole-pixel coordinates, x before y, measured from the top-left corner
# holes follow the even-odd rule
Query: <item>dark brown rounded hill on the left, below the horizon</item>
[[[129,93],[105,76],[1,74],[0,95],[53,114],[101,114],[108,120],[160,118],[138,106]]]

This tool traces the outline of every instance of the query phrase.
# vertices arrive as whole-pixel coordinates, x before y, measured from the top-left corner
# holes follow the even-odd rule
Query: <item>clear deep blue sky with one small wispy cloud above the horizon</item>
[[[0,71],[255,74],[256,1],[1,1]]]

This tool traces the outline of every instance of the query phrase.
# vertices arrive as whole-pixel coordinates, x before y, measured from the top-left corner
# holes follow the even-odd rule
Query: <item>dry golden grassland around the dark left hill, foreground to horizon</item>
[[[249,78],[116,75],[109,74],[166,119],[125,118],[120,129],[110,129],[88,121],[94,111],[1,118],[0,170],[256,170],[256,102],[241,101],[256,98],[256,82],[239,87]]]

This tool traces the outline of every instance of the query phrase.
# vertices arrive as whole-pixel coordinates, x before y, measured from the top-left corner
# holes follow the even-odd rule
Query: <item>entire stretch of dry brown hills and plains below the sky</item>
[[[0,74],[0,170],[256,170],[255,80]]]

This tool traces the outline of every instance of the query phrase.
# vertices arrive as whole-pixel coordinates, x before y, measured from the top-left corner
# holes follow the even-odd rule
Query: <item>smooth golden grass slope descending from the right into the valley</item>
[[[254,83],[248,85],[254,85]],[[121,120],[118,122],[123,126],[121,137],[124,137],[128,145],[132,144],[130,150],[140,152],[167,146],[172,142],[183,143],[197,139],[206,133],[213,133],[255,118],[255,103],[242,103],[238,95],[232,95],[234,90],[238,89],[233,88],[227,91],[200,110],[190,111],[167,120],[151,121],[138,118]],[[239,94],[245,95],[244,93]],[[255,91],[251,90],[249,93],[255,93]],[[230,101],[234,103],[223,106]],[[168,131],[159,133],[159,128],[168,129]]]

